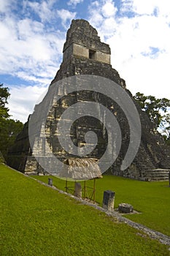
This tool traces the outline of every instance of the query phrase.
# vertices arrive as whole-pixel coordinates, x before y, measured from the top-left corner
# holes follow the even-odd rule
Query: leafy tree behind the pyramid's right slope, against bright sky
[[[134,96],[142,110],[155,124],[155,127],[167,140],[170,137],[170,100],[163,98],[157,99],[154,96],[145,96],[139,92]]]

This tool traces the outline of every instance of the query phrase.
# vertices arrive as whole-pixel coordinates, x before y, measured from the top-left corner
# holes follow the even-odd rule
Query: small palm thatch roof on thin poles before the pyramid
[[[98,166],[98,159],[95,158],[69,158],[65,160],[61,171],[61,177],[73,180],[88,180],[101,178],[101,170]]]

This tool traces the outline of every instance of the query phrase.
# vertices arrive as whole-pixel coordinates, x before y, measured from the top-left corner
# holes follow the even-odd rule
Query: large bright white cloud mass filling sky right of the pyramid
[[[90,23],[110,45],[112,67],[120,72],[133,94],[141,91],[156,97],[170,97],[169,1],[122,2],[121,13],[135,12],[131,18],[118,15],[116,9],[112,15],[104,14],[106,4],[113,1],[95,1],[89,8]]]

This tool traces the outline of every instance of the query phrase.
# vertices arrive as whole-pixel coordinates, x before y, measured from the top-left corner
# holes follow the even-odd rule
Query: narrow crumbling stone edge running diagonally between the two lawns
[[[11,168],[11,169],[12,169],[12,170],[15,170],[15,169],[13,169],[13,168]],[[18,172],[18,170],[15,170],[15,171]],[[19,173],[19,172],[18,172],[18,173]],[[46,183],[43,182],[43,181],[39,181],[39,180],[36,179],[36,178],[33,178],[33,177],[31,177],[31,176],[28,176],[27,174],[24,174],[24,173],[20,173],[20,174],[23,174],[23,176],[26,176],[26,177],[28,177],[28,178],[32,178],[32,179],[34,179],[35,181],[39,182],[40,184],[42,184],[42,185],[44,185],[44,186],[46,186],[46,187],[50,187],[51,189],[57,190],[57,191],[58,191],[59,193],[61,193],[61,194],[68,195],[69,197],[72,197],[72,198],[74,198],[75,200],[80,201],[83,205],[92,206],[93,208],[96,208],[96,209],[99,210],[99,211],[103,211],[103,212],[105,212],[105,214],[107,214],[109,217],[114,217],[114,218],[117,219],[117,221],[119,221],[119,222],[124,222],[125,224],[127,224],[127,225],[129,225],[129,226],[131,226],[131,227],[134,227],[134,228],[136,228],[137,230],[142,231],[143,233],[145,233],[145,234],[146,234],[147,236],[149,236],[150,238],[159,241],[161,244],[166,244],[166,245],[170,246],[170,237],[164,235],[163,233],[160,233],[160,232],[158,232],[158,231],[152,230],[152,229],[150,229],[149,227],[145,227],[145,226],[142,225],[142,224],[133,222],[131,219],[126,219],[125,217],[121,216],[121,214],[119,214],[119,213],[116,212],[116,211],[107,211],[107,210],[105,210],[104,208],[102,208],[101,206],[96,206],[95,204],[89,203],[88,201],[83,200],[82,198],[75,197],[75,196],[72,195],[72,194],[66,193],[66,192],[64,192],[63,190],[58,189],[58,188],[55,187],[55,186],[50,186],[50,185],[46,184]],[[169,250],[170,250],[170,248],[169,248]]]

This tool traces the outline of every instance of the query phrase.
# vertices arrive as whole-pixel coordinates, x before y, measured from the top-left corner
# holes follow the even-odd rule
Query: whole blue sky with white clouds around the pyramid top
[[[169,0],[0,0],[0,83],[12,118],[25,122],[54,78],[72,19],[110,45],[132,94],[170,98]]]

